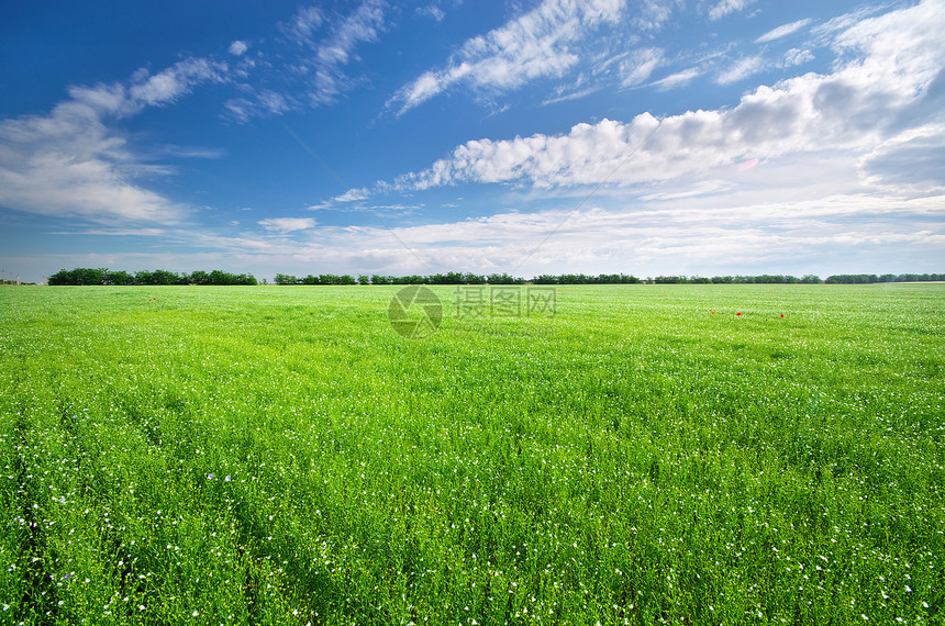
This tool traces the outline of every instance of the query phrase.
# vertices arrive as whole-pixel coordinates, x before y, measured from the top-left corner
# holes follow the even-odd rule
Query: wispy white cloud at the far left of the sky
[[[184,206],[136,182],[167,168],[142,163],[107,122],[224,81],[226,69],[188,58],[154,75],[138,70],[127,83],[73,87],[46,115],[0,121],[0,204],[98,222],[180,222]]]

